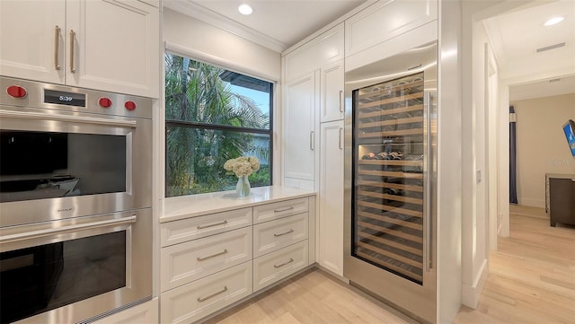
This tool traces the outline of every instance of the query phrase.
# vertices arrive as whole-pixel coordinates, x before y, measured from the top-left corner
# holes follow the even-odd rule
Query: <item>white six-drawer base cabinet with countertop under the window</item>
[[[182,198],[168,198],[177,212],[160,223],[161,323],[202,320],[314,262],[310,191],[272,186],[243,199],[226,191]]]

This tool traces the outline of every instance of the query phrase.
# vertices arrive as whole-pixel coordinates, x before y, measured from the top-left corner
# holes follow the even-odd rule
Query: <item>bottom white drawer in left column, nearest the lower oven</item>
[[[162,293],[162,323],[192,323],[252,293],[252,262]]]

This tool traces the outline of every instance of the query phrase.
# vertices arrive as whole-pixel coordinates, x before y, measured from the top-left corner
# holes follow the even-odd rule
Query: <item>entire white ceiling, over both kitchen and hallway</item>
[[[164,6],[282,52],[355,8],[375,0],[164,0]],[[251,15],[238,12],[250,4]],[[517,2],[483,21],[511,100],[575,92],[575,0]],[[556,15],[564,21],[543,23]],[[565,43],[561,48],[537,52]],[[549,82],[553,79],[553,82]],[[559,79],[559,81],[557,80]]]

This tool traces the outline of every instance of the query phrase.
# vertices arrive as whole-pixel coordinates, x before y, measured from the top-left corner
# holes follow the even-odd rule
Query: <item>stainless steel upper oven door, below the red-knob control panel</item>
[[[5,105],[0,118],[1,227],[152,205],[150,119]]]

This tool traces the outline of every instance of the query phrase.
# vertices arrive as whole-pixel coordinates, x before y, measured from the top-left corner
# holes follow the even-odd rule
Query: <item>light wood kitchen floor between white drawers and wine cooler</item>
[[[402,324],[416,321],[313,268],[205,323]]]

